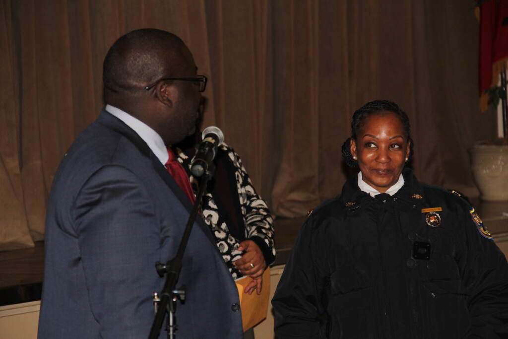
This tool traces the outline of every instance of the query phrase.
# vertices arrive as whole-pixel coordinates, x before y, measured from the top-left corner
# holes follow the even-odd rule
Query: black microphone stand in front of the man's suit
[[[208,169],[203,174],[199,184],[198,195],[196,196],[196,201],[194,202],[194,206],[192,211],[190,212],[189,219],[187,221],[187,225],[185,226],[185,231],[182,235],[182,240],[180,241],[180,245],[178,246],[178,252],[176,256],[169,260],[165,265],[156,262],[155,268],[157,269],[157,273],[163,277],[166,275],[166,283],[160,294],[160,299],[157,299],[156,302],[156,314],[153,319],[152,327],[150,329],[150,335],[148,339],[156,339],[158,338],[159,333],[161,332],[162,323],[164,322],[164,318],[166,318],[166,313],[169,314],[168,321],[168,338],[174,338],[174,332],[176,330],[176,322],[175,322],[175,311],[176,311],[176,301],[185,299],[185,287],[181,287],[180,289],[176,289],[176,283],[178,282],[178,276],[180,275],[180,270],[182,268],[182,259],[183,252],[187,246],[188,239],[190,237],[190,231],[192,231],[194,221],[196,220],[196,216],[198,214],[199,205],[201,203],[201,199],[203,198],[203,194],[205,193],[206,185],[208,180],[213,176],[213,172],[215,170],[215,166],[213,162],[210,163]],[[156,298],[156,296],[155,296]]]

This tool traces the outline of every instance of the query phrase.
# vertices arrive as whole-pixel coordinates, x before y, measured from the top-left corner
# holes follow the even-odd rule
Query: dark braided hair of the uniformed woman
[[[353,121],[351,121],[351,137],[347,138],[342,144],[342,157],[344,158],[347,166],[358,167],[358,161],[353,159],[353,156],[351,155],[351,139],[357,140],[357,134],[365,125],[367,117],[372,114],[380,114],[384,111],[394,113],[400,119],[400,122],[402,122],[407,140],[410,142],[407,163],[411,162],[413,145],[415,143],[411,139],[411,126],[409,125],[409,118],[407,117],[407,114],[394,102],[388,100],[375,100],[366,103],[353,114]]]

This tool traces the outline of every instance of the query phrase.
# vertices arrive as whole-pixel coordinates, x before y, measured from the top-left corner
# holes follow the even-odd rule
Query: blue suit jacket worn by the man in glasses
[[[148,337],[165,282],[154,263],[174,257],[191,208],[146,143],[102,111],[53,181],[39,338]],[[177,337],[241,338],[235,283],[200,217],[182,265]]]

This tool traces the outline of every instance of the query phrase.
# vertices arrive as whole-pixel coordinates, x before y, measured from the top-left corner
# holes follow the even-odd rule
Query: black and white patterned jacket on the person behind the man
[[[194,149],[184,152],[176,148],[176,154],[197,194],[198,180],[190,174]],[[203,196],[201,210],[233,279],[238,279],[243,275],[233,266],[233,261],[242,255],[236,249],[243,240],[256,242],[267,265],[274,261],[273,219],[266,202],[256,193],[240,156],[233,148],[221,144],[214,162],[217,169]]]

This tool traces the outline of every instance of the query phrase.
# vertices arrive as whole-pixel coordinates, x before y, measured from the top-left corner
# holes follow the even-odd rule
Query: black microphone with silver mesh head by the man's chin
[[[201,134],[203,140],[199,144],[196,156],[190,165],[190,172],[195,177],[201,177],[208,170],[208,167],[215,158],[217,148],[224,141],[224,134],[215,126],[205,128]]]

